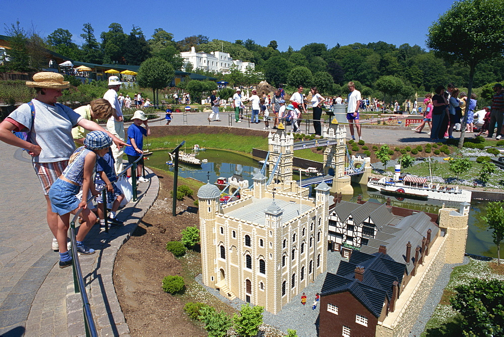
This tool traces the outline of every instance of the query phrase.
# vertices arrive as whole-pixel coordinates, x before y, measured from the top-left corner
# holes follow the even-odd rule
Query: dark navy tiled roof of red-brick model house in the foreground
[[[355,267],[364,267],[362,282],[355,280]],[[399,284],[405,265],[383,253],[353,251],[350,260],[341,261],[336,274],[327,273],[321,296],[350,292],[375,317],[379,317],[385,299],[392,298],[392,283]]]

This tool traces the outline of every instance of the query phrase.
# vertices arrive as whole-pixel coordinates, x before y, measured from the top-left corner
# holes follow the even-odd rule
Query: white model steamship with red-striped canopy
[[[449,187],[427,182],[427,178],[411,174],[401,174],[401,165],[395,166],[394,176],[375,178],[369,177],[367,187],[374,188],[383,194],[409,197],[421,200],[434,199],[446,201],[458,201],[460,203],[471,202],[471,191],[461,189],[458,186]]]

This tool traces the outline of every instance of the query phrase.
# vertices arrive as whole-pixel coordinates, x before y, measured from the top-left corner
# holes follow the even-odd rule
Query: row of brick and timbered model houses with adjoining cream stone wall
[[[436,216],[336,201],[330,231],[343,233],[335,246],[349,259],[324,281],[320,335],[408,335],[440,269],[463,260],[470,205]]]

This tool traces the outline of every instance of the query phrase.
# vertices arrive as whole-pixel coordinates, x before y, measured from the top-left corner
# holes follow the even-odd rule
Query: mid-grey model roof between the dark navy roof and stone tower
[[[383,226],[374,239],[369,239],[367,245],[361,247],[361,252],[372,254],[378,251],[381,245],[387,247],[387,254],[395,261],[406,263],[408,274],[413,269],[412,261],[406,261],[406,244],[411,242],[411,258],[415,257],[415,248],[422,246],[422,239],[427,236],[427,230],[432,230],[433,239],[439,228],[432,223],[431,218],[419,212],[402,218],[395,226]],[[353,255],[353,253],[352,253]]]

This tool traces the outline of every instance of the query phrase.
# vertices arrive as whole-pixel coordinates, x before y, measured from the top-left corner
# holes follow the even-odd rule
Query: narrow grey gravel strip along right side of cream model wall
[[[415,325],[413,325],[413,328],[411,329],[409,334],[410,337],[419,336],[425,330],[425,324],[429,321],[430,317],[432,317],[432,313],[439,304],[443,291],[448,285],[448,281],[450,281],[450,275],[452,274],[453,268],[467,263],[469,263],[469,257],[465,256],[464,262],[462,263],[445,264],[443,266],[441,273],[434,283],[434,287],[432,287],[430,294],[423,305],[422,311],[420,311],[420,315],[418,315]]]

